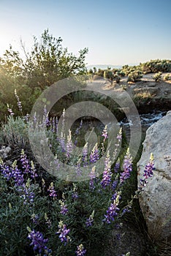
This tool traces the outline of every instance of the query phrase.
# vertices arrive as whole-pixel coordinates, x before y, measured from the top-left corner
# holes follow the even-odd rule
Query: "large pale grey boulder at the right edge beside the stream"
[[[153,177],[140,197],[140,207],[153,241],[171,241],[171,111],[146,133],[140,161],[138,183],[151,152],[155,160]]]

